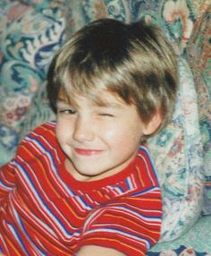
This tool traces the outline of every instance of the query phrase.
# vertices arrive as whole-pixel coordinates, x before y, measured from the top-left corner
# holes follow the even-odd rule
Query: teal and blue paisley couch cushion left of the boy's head
[[[35,126],[51,118],[46,94],[38,90],[46,80],[52,56],[63,43],[64,29],[61,6],[55,1],[50,4],[38,1],[39,5],[3,2],[0,6],[0,165],[13,157],[25,135],[22,128],[30,118],[29,111],[40,114],[37,124],[29,121]],[[35,107],[34,98],[38,98],[36,94],[41,101],[31,110],[31,104]],[[46,104],[41,105],[43,102]]]

